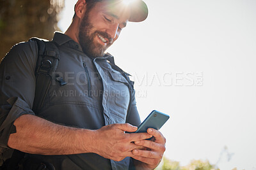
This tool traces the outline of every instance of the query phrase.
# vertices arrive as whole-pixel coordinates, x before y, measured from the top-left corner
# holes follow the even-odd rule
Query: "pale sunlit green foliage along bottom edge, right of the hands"
[[[179,162],[163,158],[163,165],[157,169],[161,170],[220,170],[215,169],[208,160],[191,160],[187,166],[180,166]]]

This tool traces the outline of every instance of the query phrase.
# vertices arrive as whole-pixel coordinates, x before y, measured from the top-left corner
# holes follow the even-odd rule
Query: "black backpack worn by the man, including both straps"
[[[67,83],[60,77],[58,74],[55,74],[56,68],[58,67],[58,61],[60,60],[60,53],[58,49],[58,44],[54,41],[48,41],[46,39],[39,38],[31,38],[29,41],[36,41],[38,46],[38,59],[36,62],[36,90],[35,90],[35,99],[33,102],[32,110],[35,113],[38,113],[42,106],[44,105],[45,97],[47,96],[47,92],[51,85],[51,82],[56,80],[60,83],[60,86],[66,85]],[[127,110],[128,113],[131,110],[131,102],[132,95],[134,94],[134,82],[129,79],[130,74],[125,73],[120,67],[115,65],[113,58],[109,59],[109,64],[113,69],[120,72],[122,76],[128,81],[129,93],[130,93],[130,101]],[[8,153],[8,154],[6,154]],[[10,150],[6,148],[0,148],[0,170],[6,168],[1,167],[3,162],[7,159],[6,164],[8,164],[8,169],[15,169],[17,164],[20,165],[20,160],[24,157],[24,152],[20,152],[19,150]]]

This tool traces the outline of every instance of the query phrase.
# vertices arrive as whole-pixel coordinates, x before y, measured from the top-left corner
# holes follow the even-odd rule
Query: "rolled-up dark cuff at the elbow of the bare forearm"
[[[7,143],[10,134],[16,131],[15,125],[13,125],[14,121],[21,115],[35,115],[29,105],[19,97],[10,97],[7,102],[10,105],[0,108],[0,119],[3,122],[0,126],[0,147],[3,148],[10,148]]]

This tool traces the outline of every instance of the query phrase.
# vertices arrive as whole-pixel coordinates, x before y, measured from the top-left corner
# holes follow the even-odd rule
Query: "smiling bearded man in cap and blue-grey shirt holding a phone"
[[[52,81],[44,106],[34,113],[35,41],[20,43],[6,55],[1,75],[1,143],[25,152],[24,169],[154,169],[163,157],[165,138],[140,124],[127,79],[109,64],[104,52],[128,21],[147,18],[147,6],[136,0],[79,0],[65,34],[56,32],[60,60],[56,73],[67,85]],[[128,110],[129,99],[132,99]],[[129,113],[127,113],[129,112]],[[154,136],[154,140],[146,140]],[[10,165],[9,165],[10,166]]]

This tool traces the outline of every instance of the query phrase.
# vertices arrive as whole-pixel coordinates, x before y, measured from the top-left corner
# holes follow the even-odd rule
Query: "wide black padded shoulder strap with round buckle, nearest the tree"
[[[33,111],[38,113],[44,104],[45,97],[52,80],[55,78],[55,71],[60,60],[58,46],[52,41],[31,38],[38,45],[38,60],[36,66],[36,90],[33,103]]]

